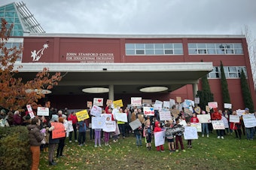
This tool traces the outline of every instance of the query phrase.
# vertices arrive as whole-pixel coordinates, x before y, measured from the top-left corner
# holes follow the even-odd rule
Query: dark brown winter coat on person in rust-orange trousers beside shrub
[[[44,134],[40,132],[37,125],[27,126],[29,130],[29,144],[30,146],[40,146],[41,141],[44,139]]]

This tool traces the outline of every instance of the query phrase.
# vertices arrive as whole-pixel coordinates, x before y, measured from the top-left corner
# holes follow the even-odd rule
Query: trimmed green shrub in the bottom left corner
[[[31,152],[26,126],[0,128],[0,169],[29,169]]]

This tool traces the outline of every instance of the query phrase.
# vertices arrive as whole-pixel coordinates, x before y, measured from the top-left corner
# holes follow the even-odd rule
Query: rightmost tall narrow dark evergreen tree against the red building
[[[242,98],[243,98],[243,102],[245,104],[245,107],[246,108],[249,108],[251,112],[254,111],[254,104],[252,102],[252,99],[251,99],[251,92],[249,90],[249,87],[248,87],[248,82],[247,82],[247,79],[245,77],[245,73],[244,71],[242,70],[241,72],[241,88],[242,88]]]

